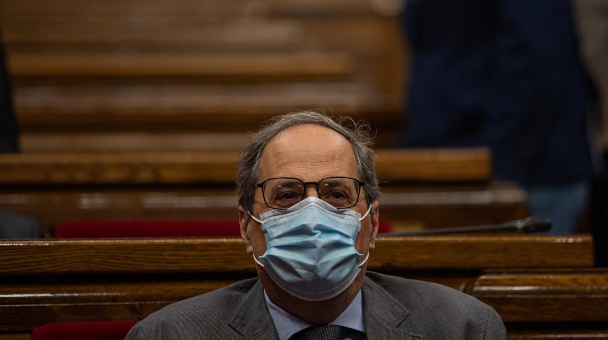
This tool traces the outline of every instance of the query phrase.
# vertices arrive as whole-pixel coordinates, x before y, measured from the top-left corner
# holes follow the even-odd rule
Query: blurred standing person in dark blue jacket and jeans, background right
[[[572,233],[589,205],[596,93],[568,0],[411,0],[413,69],[399,147],[490,147],[494,176]]]

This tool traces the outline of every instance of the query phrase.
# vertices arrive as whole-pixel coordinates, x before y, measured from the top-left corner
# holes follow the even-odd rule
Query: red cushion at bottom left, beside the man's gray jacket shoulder
[[[32,340],[123,340],[137,321],[87,321],[41,325]]]

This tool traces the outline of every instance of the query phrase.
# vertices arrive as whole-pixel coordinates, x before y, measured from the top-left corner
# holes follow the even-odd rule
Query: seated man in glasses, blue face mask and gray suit
[[[366,274],[379,216],[370,145],[364,127],[322,114],[272,119],[237,173],[259,279],[169,305],[127,339],[505,339],[496,311],[471,296]]]

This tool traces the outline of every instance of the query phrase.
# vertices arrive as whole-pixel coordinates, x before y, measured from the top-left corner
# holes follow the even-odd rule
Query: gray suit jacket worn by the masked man
[[[505,339],[493,308],[435,283],[367,272],[363,314],[367,339]],[[162,308],[135,325],[126,340],[277,339],[258,279]]]

